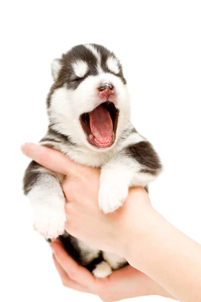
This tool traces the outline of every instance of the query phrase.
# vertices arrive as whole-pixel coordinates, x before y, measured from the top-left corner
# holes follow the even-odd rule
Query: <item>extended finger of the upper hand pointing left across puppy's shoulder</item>
[[[64,175],[79,175],[83,169],[87,169],[71,161],[61,152],[32,142],[26,142],[21,150],[27,157],[31,158],[43,167]]]

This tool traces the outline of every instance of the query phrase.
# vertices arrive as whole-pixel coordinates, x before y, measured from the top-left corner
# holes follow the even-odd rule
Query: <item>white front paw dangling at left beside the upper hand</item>
[[[66,222],[63,207],[40,205],[34,211],[34,230],[45,238],[55,239],[64,233]]]

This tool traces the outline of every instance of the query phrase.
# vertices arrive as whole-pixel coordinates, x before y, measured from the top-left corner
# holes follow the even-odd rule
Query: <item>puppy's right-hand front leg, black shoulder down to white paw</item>
[[[161,170],[159,158],[147,140],[125,146],[102,167],[98,194],[99,207],[105,213],[119,208],[129,187],[147,186]]]

